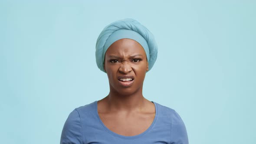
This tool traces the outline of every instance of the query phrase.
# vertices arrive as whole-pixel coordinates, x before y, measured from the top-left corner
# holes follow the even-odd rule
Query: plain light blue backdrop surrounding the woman
[[[181,115],[190,144],[256,144],[254,0],[1,1],[1,144],[58,144],[69,113],[108,94],[95,43],[124,18],[154,34],[143,94]]]

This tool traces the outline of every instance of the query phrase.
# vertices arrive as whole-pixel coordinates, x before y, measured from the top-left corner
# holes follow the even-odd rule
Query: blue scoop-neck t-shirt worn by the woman
[[[64,124],[60,144],[188,144],[184,122],[177,112],[153,103],[156,113],[151,126],[135,136],[110,131],[99,118],[97,101],[75,108]]]

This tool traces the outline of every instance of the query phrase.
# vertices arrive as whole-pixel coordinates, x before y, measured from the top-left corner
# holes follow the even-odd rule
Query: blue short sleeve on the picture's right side
[[[174,111],[171,119],[171,144],[188,144],[187,130],[180,115]]]

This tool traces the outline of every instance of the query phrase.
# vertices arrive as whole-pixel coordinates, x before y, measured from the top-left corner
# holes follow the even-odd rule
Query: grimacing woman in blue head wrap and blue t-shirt
[[[154,36],[135,20],[106,26],[96,43],[96,63],[108,75],[110,92],[75,108],[61,144],[188,144],[180,116],[142,95],[146,72],[157,58]]]

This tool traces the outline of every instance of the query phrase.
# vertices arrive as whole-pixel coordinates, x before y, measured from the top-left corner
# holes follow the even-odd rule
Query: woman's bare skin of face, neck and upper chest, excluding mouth
[[[146,131],[155,116],[154,103],[142,95],[148,61],[143,47],[133,39],[119,39],[105,53],[104,69],[110,92],[98,101],[98,115],[105,126],[120,135]],[[134,82],[123,86],[118,76],[131,75]]]

